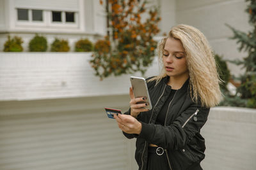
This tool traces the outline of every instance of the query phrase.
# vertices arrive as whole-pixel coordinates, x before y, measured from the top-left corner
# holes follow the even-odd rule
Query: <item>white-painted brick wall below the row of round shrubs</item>
[[[129,92],[129,74],[100,81],[91,53],[0,53],[0,101],[108,96]],[[157,75],[155,60],[146,76]],[[140,73],[135,74],[141,76]]]

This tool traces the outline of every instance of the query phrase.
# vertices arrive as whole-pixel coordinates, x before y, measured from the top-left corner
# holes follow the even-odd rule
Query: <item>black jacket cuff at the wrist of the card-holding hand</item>
[[[153,138],[155,133],[155,127],[152,124],[145,124],[141,122],[141,132],[138,135],[138,138],[143,138],[146,141],[150,141]]]

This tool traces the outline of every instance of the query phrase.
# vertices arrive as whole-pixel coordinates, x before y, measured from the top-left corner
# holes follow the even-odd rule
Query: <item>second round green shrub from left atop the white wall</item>
[[[29,41],[30,52],[46,52],[47,50],[47,39],[44,36],[35,35],[33,39]]]

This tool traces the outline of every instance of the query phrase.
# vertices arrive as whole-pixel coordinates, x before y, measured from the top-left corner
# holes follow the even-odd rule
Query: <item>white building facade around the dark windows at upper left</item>
[[[50,2],[50,1],[49,1]],[[4,27],[0,25],[0,51],[4,49],[7,36],[20,36],[24,43],[24,51],[28,51],[29,41],[36,33],[45,36],[48,41],[50,51],[54,38],[68,39],[70,51],[74,51],[74,45],[81,38],[88,38],[95,42],[100,36],[106,34],[106,14],[99,1],[77,0],[77,1],[52,1],[52,3],[42,1],[19,1],[0,0],[4,4],[4,9],[0,15],[0,20]],[[52,4],[52,5],[48,5]],[[70,8],[69,8],[70,6]],[[44,22],[22,22],[17,20],[17,8],[44,10]],[[74,11],[76,12],[75,24],[54,24],[51,23],[51,10]],[[4,20],[5,18],[5,20]],[[4,23],[4,21],[6,21]]]

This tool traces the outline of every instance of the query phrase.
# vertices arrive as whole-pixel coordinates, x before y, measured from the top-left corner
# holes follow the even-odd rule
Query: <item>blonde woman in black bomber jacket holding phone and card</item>
[[[152,110],[137,104],[130,89],[130,109],[115,115],[124,135],[136,140],[139,169],[202,169],[205,143],[200,129],[221,100],[220,78],[202,32],[189,25],[172,27],[158,46],[163,72],[148,78]]]

